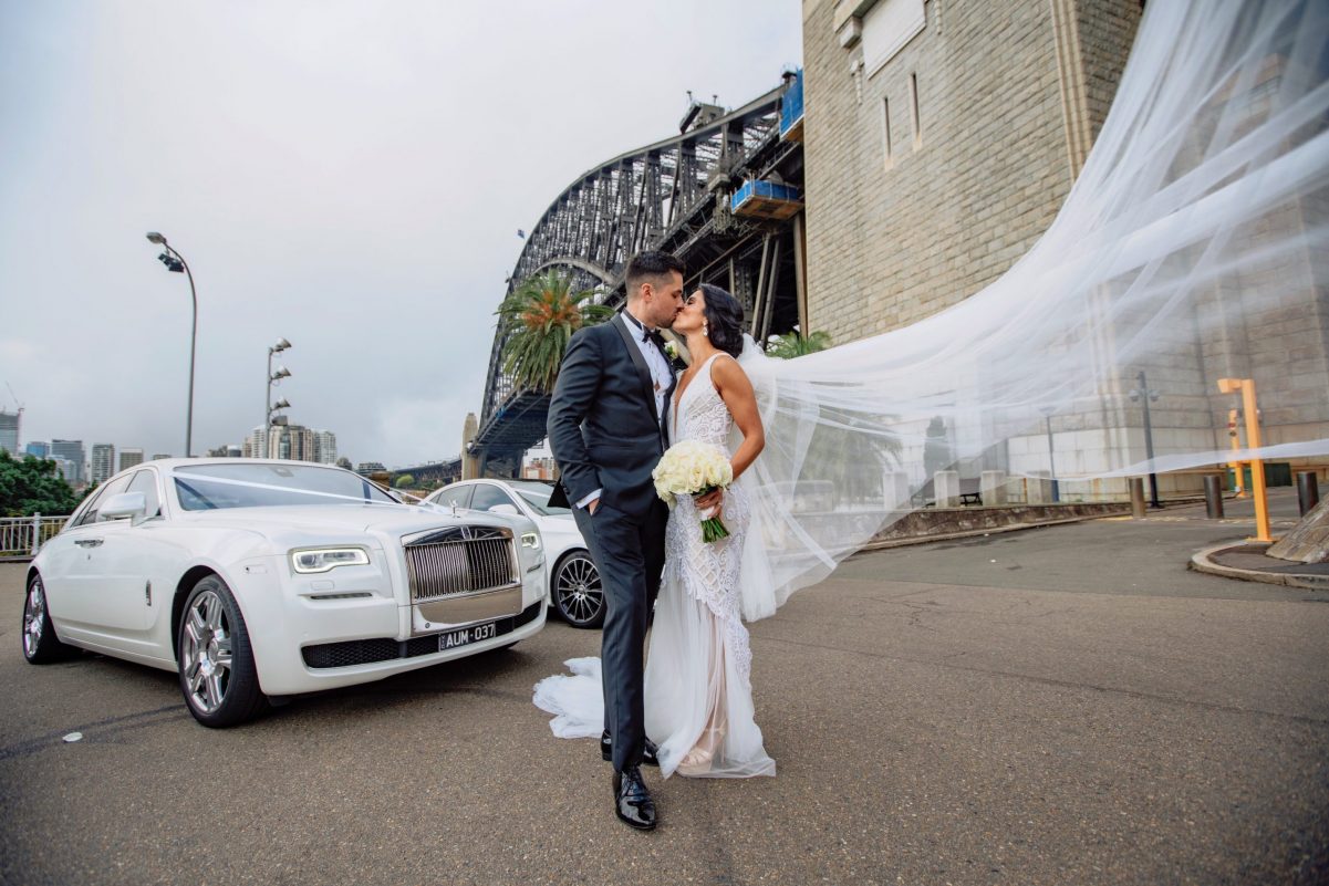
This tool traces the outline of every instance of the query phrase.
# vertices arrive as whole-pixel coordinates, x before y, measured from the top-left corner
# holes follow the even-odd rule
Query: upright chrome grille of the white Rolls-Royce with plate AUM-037
[[[403,549],[411,600],[436,600],[520,583],[512,534],[489,527],[449,527]]]

